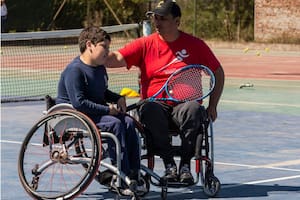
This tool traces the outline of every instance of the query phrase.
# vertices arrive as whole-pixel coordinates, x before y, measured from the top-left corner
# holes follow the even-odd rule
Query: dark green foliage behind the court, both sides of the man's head
[[[9,0],[10,32],[140,23],[158,0]],[[205,39],[253,40],[254,0],[177,0],[180,28]],[[111,7],[111,9],[109,8]],[[61,10],[60,10],[61,8]]]

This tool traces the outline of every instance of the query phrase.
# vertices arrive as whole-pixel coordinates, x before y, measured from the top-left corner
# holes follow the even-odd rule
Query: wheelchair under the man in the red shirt
[[[203,192],[208,197],[214,197],[217,195],[221,188],[221,183],[219,179],[214,175],[214,154],[213,154],[213,124],[210,119],[207,119],[203,124],[203,138],[198,135],[195,149],[195,173],[196,179],[193,184],[188,185],[187,183],[180,182],[168,182],[162,177],[158,176],[154,172],[154,155],[149,155],[148,153],[141,155],[141,160],[147,160],[147,167],[143,168],[146,172],[145,179],[148,180],[152,185],[162,187],[161,198],[167,198],[168,187],[171,188],[181,188],[181,187],[190,187],[196,185],[199,180],[201,180],[203,186]],[[208,131],[209,128],[209,131]],[[170,142],[172,143],[173,137],[179,135],[179,130],[172,130],[169,134]],[[175,134],[174,134],[175,133]],[[145,136],[144,136],[145,137]],[[199,142],[202,142],[200,144]],[[175,150],[175,156],[180,156],[180,145],[172,145]],[[147,151],[147,148],[144,148]],[[154,180],[153,180],[154,179]]]

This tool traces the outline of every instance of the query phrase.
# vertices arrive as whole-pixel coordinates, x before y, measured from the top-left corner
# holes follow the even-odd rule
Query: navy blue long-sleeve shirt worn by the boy
[[[104,66],[89,66],[76,57],[62,72],[56,103],[70,103],[94,121],[108,115],[107,102],[116,103],[121,96],[108,90]]]

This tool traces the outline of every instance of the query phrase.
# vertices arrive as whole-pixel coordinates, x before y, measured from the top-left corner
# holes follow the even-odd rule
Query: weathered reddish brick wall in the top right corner
[[[300,39],[300,0],[255,0],[254,38]]]

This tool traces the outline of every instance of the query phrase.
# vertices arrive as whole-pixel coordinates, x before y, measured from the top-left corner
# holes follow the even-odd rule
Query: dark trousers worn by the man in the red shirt
[[[181,138],[181,163],[190,164],[195,155],[195,143],[198,134],[202,133],[202,124],[206,111],[196,101],[178,104],[171,107],[161,102],[147,102],[140,108],[141,122],[149,131],[151,149],[159,155],[164,164],[175,164],[168,130],[170,124],[176,124]]]

